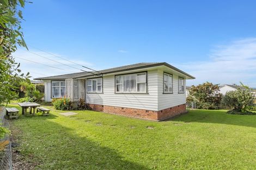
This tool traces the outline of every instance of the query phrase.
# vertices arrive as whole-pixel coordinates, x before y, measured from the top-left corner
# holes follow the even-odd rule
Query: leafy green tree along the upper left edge
[[[0,0],[0,104],[16,97],[17,81],[29,81],[29,73],[21,73],[20,64],[11,55],[17,45],[27,48],[21,32],[22,11],[17,9],[20,7],[25,7],[25,0]]]

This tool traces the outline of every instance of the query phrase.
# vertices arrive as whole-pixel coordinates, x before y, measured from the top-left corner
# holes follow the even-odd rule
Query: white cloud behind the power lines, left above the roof
[[[58,75],[58,74],[69,74],[69,73],[75,73],[75,72],[82,72],[79,69],[86,70],[86,68],[78,66],[72,62],[75,62],[75,63],[83,65],[83,66],[92,67],[92,64],[90,64],[89,62],[82,61],[82,60],[76,60],[76,59],[68,59],[65,56],[62,56],[60,54],[52,53],[53,55],[51,55],[51,54],[41,52],[41,51],[36,51],[33,49],[31,50],[31,52],[32,53],[25,51],[23,49],[18,49],[15,53],[13,53],[13,56],[16,57],[16,59],[15,59],[16,62],[21,63],[20,69],[22,70],[22,72],[23,73],[30,72],[32,79],[38,78],[38,77],[51,76],[51,75]],[[65,64],[68,66],[48,60],[46,58],[43,58],[43,57],[38,56],[33,53],[36,53],[41,56],[45,56],[46,58],[61,62],[62,64]],[[72,62],[60,59],[54,55],[60,56],[61,58],[67,59]],[[30,60],[30,61],[27,61],[27,60]],[[31,62],[31,61],[39,62],[41,64],[37,64],[37,63]],[[48,65],[50,67],[48,67],[46,65]],[[75,68],[71,68],[69,66],[75,67]],[[57,68],[54,68],[54,67],[57,67]],[[58,69],[58,68],[60,68],[60,69]],[[78,70],[76,68],[78,68]]]

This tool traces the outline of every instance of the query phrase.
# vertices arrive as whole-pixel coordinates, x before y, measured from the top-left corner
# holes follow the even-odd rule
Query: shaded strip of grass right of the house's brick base
[[[256,127],[256,115],[230,115],[227,110],[190,110],[187,114],[167,121],[218,123]]]

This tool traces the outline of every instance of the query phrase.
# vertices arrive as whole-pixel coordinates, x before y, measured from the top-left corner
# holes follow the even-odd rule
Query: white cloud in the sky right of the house
[[[215,46],[209,61],[187,62],[181,65],[196,80],[188,84],[210,81],[216,84],[239,84],[242,81],[256,87],[256,38],[247,38]]]

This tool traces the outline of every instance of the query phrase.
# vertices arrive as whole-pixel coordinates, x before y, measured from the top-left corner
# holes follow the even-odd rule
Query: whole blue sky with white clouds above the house
[[[256,87],[255,5],[218,0],[34,0],[23,9],[29,51],[19,47],[13,55],[32,78],[80,72],[80,65],[102,70],[168,62],[196,77],[187,85],[242,81]]]

